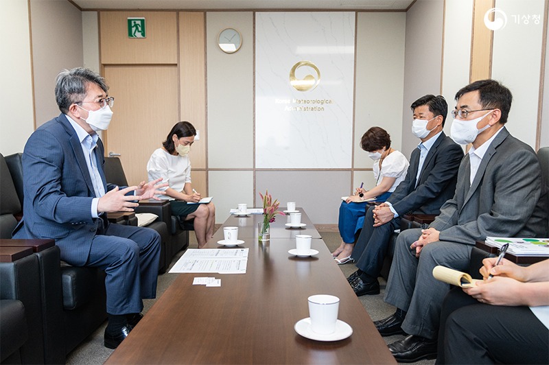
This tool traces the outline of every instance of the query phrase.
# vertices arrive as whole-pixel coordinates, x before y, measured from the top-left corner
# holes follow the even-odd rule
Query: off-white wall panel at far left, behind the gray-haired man
[[[0,11],[0,153],[22,152],[34,131],[27,1],[4,0]]]

